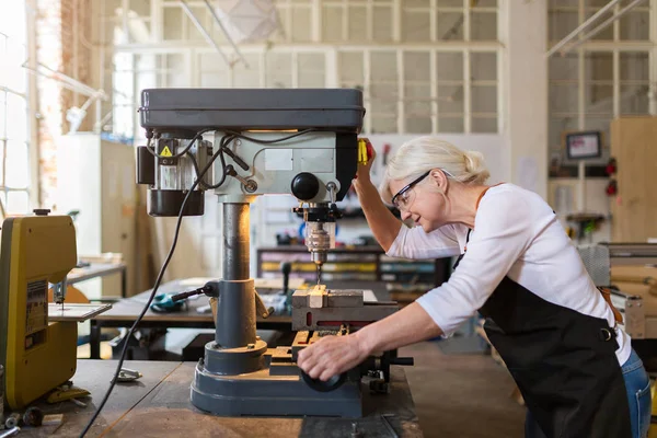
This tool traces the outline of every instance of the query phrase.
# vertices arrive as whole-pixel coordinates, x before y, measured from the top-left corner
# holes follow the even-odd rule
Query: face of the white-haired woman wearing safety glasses
[[[412,219],[427,233],[447,223],[447,199],[436,191],[437,185],[441,184],[439,177],[436,177],[436,173],[427,173],[412,181],[394,180],[390,182],[393,204],[401,211],[402,220]]]

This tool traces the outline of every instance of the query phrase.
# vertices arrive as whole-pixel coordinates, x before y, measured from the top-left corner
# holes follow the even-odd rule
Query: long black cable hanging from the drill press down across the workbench
[[[158,278],[155,279],[155,285],[153,286],[153,290],[152,290],[152,292],[151,292],[151,295],[150,295],[150,297],[148,299],[148,302],[146,303],[146,306],[141,310],[141,313],[139,314],[139,316],[137,316],[137,320],[135,321],[135,323],[132,324],[132,326],[128,331],[128,335],[126,336],[125,344],[124,344],[123,350],[120,353],[120,359],[118,360],[118,366],[116,367],[116,371],[114,372],[114,378],[112,379],[112,382],[110,383],[110,388],[107,389],[107,392],[105,393],[105,396],[103,397],[103,401],[101,402],[101,404],[96,408],[95,413],[93,414],[93,416],[91,417],[91,419],[87,424],[87,427],[84,427],[84,430],[82,430],[82,434],[80,434],[80,438],[83,438],[87,435],[87,433],[91,429],[91,427],[93,426],[93,423],[96,420],[96,418],[100,415],[101,411],[105,406],[105,403],[107,403],[107,400],[110,399],[110,394],[112,393],[112,390],[114,389],[114,385],[116,384],[116,381],[118,380],[118,374],[120,372],[120,369],[123,367],[124,360],[126,358],[126,354],[128,351],[129,339],[132,336],[132,334],[135,333],[135,330],[137,328],[137,325],[141,322],[141,319],[143,318],[143,315],[146,314],[146,312],[150,308],[150,304],[153,301],[153,298],[155,297],[155,295],[158,292],[158,289],[160,288],[160,283],[162,281],[162,277],[164,276],[164,272],[166,270],[166,267],[169,266],[169,263],[171,262],[171,257],[173,256],[173,252],[175,251],[175,246],[177,244],[178,234],[180,234],[180,231],[181,231],[181,224],[183,223],[183,217],[184,217],[183,212],[185,211],[185,206],[187,205],[187,200],[189,199],[189,196],[192,195],[192,192],[194,192],[194,189],[196,188],[196,186],[199,184],[199,182],[201,181],[201,178],[205,176],[205,174],[211,168],[212,163],[215,162],[215,160],[217,160],[217,157],[219,157],[220,153],[221,153],[221,148],[219,148],[219,150],[217,152],[215,152],[215,154],[212,155],[212,158],[210,159],[210,161],[206,164],[206,166],[200,172],[198,178],[196,178],[196,181],[194,182],[194,184],[192,184],[192,187],[189,187],[189,191],[187,192],[187,195],[185,196],[185,199],[183,200],[183,204],[181,205],[181,211],[178,212],[177,222],[175,224],[175,232],[173,234],[173,242],[171,244],[171,249],[169,250],[169,254],[166,254],[166,258],[164,260],[164,263],[162,264],[162,268],[160,269],[160,274],[158,274]]]

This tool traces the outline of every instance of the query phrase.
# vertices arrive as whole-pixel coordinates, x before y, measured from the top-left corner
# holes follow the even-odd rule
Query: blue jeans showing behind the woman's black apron
[[[630,403],[632,436],[634,438],[645,438],[648,436],[653,411],[650,378],[634,349],[627,361],[623,364],[622,370],[625,389],[627,390],[627,402]]]

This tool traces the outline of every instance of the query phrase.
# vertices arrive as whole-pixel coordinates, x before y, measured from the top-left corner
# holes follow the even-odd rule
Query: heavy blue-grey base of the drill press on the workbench
[[[206,346],[206,360],[211,344]],[[268,349],[263,359],[265,368],[232,376],[210,372],[200,360],[192,404],[219,416],[362,416],[358,370],[335,390],[320,392],[304,382],[290,347]]]

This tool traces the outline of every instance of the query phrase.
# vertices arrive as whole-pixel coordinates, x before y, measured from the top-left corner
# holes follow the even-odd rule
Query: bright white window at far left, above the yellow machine
[[[26,10],[11,1],[0,14],[0,203],[9,215],[30,211]]]

